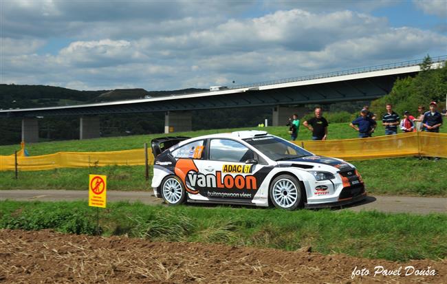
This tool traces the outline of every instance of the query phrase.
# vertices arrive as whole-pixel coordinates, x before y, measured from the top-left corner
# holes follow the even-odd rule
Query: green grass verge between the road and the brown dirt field
[[[96,208],[86,202],[0,201],[0,228],[94,233]],[[371,259],[446,259],[447,215],[261,208],[202,208],[109,203],[102,234],[152,241],[195,241]]]

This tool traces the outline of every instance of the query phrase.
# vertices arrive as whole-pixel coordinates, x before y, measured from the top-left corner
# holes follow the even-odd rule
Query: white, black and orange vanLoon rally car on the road
[[[158,138],[152,149],[155,196],[171,205],[273,204],[294,210],[342,206],[367,195],[352,164],[265,131]]]

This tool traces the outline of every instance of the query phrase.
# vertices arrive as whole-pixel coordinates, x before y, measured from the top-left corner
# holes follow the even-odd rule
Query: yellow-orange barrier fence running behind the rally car
[[[366,160],[385,157],[422,155],[447,158],[447,134],[412,132],[374,138],[294,141],[298,146],[317,155],[344,160]],[[153,155],[148,149],[149,164]],[[41,171],[54,168],[83,168],[89,166],[144,165],[144,149],[109,152],[59,152],[41,156],[23,156],[18,152],[19,171]],[[0,171],[14,171],[14,155],[0,155]]]

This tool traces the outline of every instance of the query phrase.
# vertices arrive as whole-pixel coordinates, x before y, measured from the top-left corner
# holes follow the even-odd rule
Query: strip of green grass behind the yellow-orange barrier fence
[[[380,123],[378,123],[380,124]],[[189,137],[197,137],[201,135],[224,133],[238,130],[259,129],[268,131],[271,134],[290,139],[287,133],[287,127],[252,127],[239,129],[211,129],[190,132],[171,133],[170,135],[184,135]],[[331,123],[328,127],[329,140],[357,138],[357,132],[351,129],[347,123]],[[447,127],[441,127],[441,132],[447,133]],[[373,136],[384,135],[384,128],[379,125]],[[166,134],[150,134],[150,135],[133,135],[125,137],[98,138],[89,140],[67,140],[59,142],[41,142],[35,144],[27,144],[26,149],[30,155],[47,155],[57,152],[95,152],[95,151],[120,151],[130,149],[142,149],[144,143],[150,142],[153,138],[166,136]],[[307,128],[301,126],[297,140],[310,140],[311,133]],[[0,155],[12,155],[15,150],[20,150],[20,145],[0,146]]]

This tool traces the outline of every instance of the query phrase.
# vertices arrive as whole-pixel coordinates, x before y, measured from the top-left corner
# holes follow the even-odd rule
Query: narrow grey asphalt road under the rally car
[[[87,190],[0,190],[0,200],[87,201],[87,198]],[[107,191],[107,201],[124,200],[141,201],[144,204],[162,204],[162,199],[155,198],[152,192]],[[382,212],[410,212],[416,214],[447,213],[447,198],[375,195],[369,196],[366,200],[347,206],[342,210],[378,210]]]

